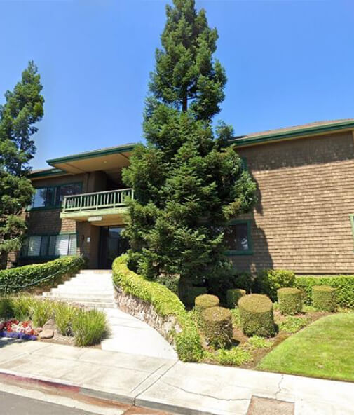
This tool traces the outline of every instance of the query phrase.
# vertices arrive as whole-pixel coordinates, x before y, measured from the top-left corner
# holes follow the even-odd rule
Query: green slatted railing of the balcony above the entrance
[[[96,193],[65,196],[62,203],[62,213],[114,209],[115,207],[125,206],[128,198],[134,198],[133,189],[99,191]]]

